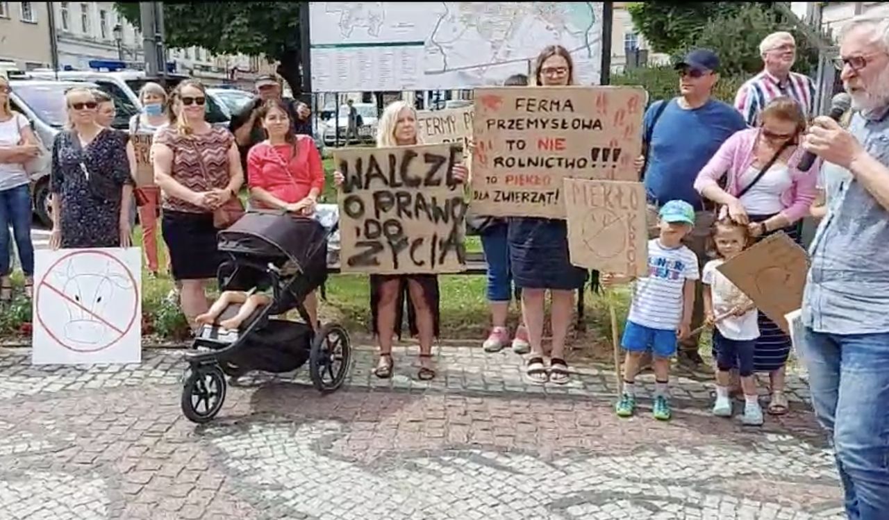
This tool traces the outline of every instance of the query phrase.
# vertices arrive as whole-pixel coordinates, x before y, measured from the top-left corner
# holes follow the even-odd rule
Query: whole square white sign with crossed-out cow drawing
[[[33,364],[140,363],[140,249],[41,250]]]

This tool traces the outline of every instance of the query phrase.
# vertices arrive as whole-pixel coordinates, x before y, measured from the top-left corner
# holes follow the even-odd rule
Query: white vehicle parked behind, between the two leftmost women
[[[85,86],[99,88],[99,85],[80,81],[11,80],[12,94],[10,106],[13,110],[28,117],[36,135],[52,152],[52,141],[68,120],[65,106],[65,92],[69,88]],[[115,100],[117,104],[117,100]],[[118,109],[119,110],[119,109]],[[125,128],[124,124],[124,128]],[[31,200],[37,219],[46,226],[52,226],[50,216],[50,172],[36,172],[31,176]]]

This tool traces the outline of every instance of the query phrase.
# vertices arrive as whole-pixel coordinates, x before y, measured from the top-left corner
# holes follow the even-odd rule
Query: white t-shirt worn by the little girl
[[[723,262],[725,260],[710,260],[701,274],[701,282],[709,285],[710,294],[713,296],[713,314],[716,317],[730,312],[733,308],[753,303],[741,289],[719,272],[717,268]],[[728,340],[756,340],[759,337],[757,310],[753,309],[744,316],[729,316],[717,323],[717,328]]]

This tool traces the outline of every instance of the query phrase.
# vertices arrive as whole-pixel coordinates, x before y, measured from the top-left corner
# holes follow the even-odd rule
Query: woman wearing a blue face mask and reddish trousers
[[[131,135],[137,133],[154,135],[158,128],[170,123],[167,93],[164,87],[154,82],[142,85],[139,90],[139,102],[142,104],[142,113],[130,119]],[[161,190],[154,184],[153,179],[140,179],[137,172],[133,172],[133,178],[137,180],[136,199],[140,201],[136,209],[139,211],[139,222],[142,226],[142,249],[148,260],[148,272],[156,275],[159,268],[156,229],[157,217],[160,216]]]

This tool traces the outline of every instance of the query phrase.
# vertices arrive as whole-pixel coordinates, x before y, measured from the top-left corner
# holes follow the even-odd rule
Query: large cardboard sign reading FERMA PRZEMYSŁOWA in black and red
[[[479,214],[564,219],[563,178],[639,179],[641,88],[479,88],[475,103],[472,205]]]

